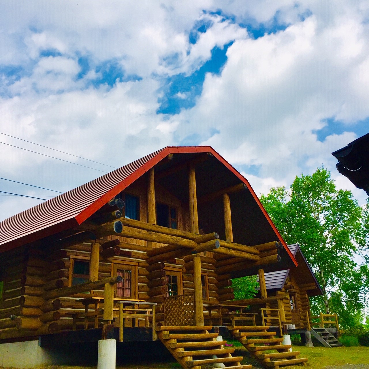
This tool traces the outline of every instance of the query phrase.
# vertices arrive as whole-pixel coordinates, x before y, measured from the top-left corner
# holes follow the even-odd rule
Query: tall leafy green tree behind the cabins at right
[[[368,228],[351,191],[337,190],[321,167],[313,175],[296,176],[290,190],[272,188],[261,201],[285,241],[300,245],[322,287],[323,301],[313,300],[313,311],[324,307],[327,313],[346,309],[351,317],[361,315],[368,268],[358,269],[352,258],[362,252]]]

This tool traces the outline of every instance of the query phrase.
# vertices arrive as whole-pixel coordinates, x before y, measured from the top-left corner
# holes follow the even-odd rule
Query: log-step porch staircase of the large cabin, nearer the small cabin
[[[307,358],[298,359],[299,351],[290,352],[291,345],[282,345],[283,338],[274,338],[276,332],[267,332],[264,325],[234,325],[228,330],[254,358],[265,368],[279,369],[281,366],[302,364],[307,365]],[[265,353],[268,351],[268,353]],[[275,351],[269,353],[269,351]]]

